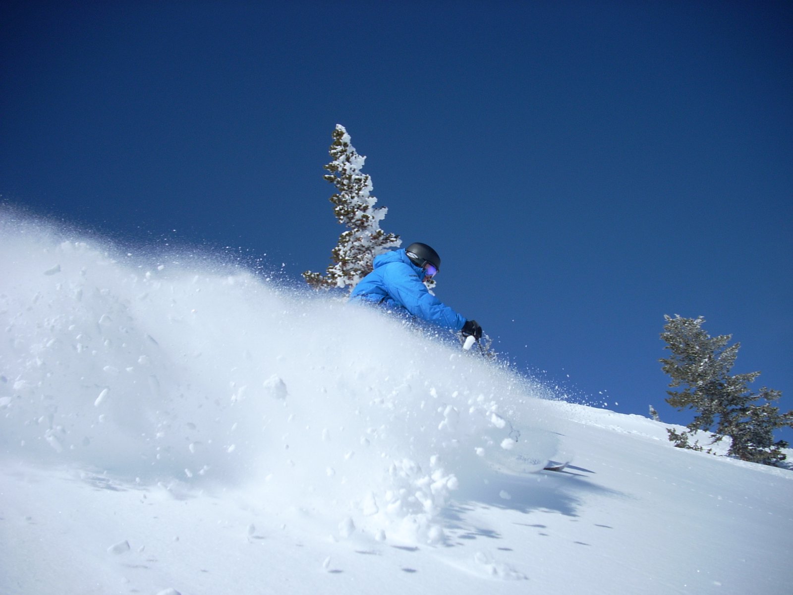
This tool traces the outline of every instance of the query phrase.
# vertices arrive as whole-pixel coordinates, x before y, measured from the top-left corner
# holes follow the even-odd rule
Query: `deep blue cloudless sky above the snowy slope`
[[[793,408],[790,2],[275,4],[3,2],[2,200],[298,282],[340,123],[519,367],[687,423],[658,335],[703,315]]]

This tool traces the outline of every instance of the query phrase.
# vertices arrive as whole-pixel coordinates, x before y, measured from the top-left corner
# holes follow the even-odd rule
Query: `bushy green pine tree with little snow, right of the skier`
[[[661,339],[667,343],[665,349],[672,351],[671,357],[661,359],[663,370],[672,378],[670,388],[684,386],[684,390],[668,390],[666,402],[675,409],[694,409],[697,414],[689,432],[714,430],[713,443],[729,436],[729,455],[744,461],[779,463],[786,457],[781,449],[787,447],[784,440],[774,441],[777,428],[793,428],[793,411],[780,413],[770,404],[782,396],[779,390],[765,386],[760,393],[749,390],[760,372],[730,375],[740,343],[729,345],[732,336],[711,337],[702,328],[703,317],[681,318],[665,316],[666,324]],[[757,401],[763,399],[762,405]],[[687,432],[668,430],[669,440],[678,447],[702,450],[697,443],[688,443]]]

